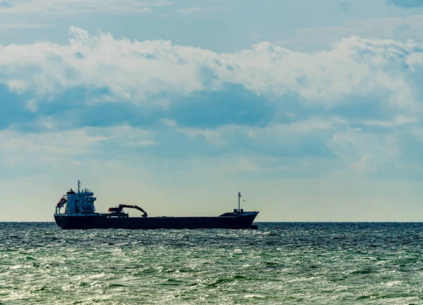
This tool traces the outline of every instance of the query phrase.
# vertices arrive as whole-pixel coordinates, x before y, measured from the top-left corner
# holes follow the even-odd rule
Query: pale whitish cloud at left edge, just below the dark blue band
[[[51,129],[51,118],[42,118],[39,125]],[[85,127],[76,130],[48,132],[19,132],[16,130],[0,131],[0,156],[8,165],[20,166],[27,162],[37,164],[57,164],[63,159],[70,162],[75,158],[89,157],[97,159],[104,149],[104,142],[113,142],[114,146],[127,147],[130,144],[140,146],[157,145],[152,136],[154,132],[140,130],[128,125],[115,127]],[[1,165],[1,162],[0,162]]]

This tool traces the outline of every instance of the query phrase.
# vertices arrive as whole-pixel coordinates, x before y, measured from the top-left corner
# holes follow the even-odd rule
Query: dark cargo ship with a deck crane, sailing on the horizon
[[[238,192],[238,208],[220,216],[159,216],[149,217],[140,206],[119,204],[109,208],[107,213],[97,213],[94,206],[94,193],[82,189],[78,180],[78,190],[70,189],[56,204],[54,220],[65,230],[83,229],[257,229],[253,225],[258,211],[244,211],[240,206],[241,193]],[[135,208],[140,217],[129,217],[123,208]],[[63,211],[64,210],[64,211]],[[63,211],[63,212],[62,212]]]

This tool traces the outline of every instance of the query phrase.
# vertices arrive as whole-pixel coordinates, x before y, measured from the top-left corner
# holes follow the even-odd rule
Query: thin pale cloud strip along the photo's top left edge
[[[128,15],[151,13],[152,8],[170,4],[164,0],[11,0],[0,6],[1,14],[80,15],[109,13]]]

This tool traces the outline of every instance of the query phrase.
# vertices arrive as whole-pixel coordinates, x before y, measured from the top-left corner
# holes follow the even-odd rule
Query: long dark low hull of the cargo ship
[[[258,212],[238,216],[216,217],[107,217],[55,215],[62,229],[249,229]]]

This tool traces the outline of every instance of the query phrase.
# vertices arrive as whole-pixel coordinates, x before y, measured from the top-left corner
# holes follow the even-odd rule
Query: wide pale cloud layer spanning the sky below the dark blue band
[[[410,148],[400,140],[402,135],[412,130],[415,137],[422,138],[421,128],[415,125],[404,133],[391,134],[389,129],[371,132],[365,127],[352,128],[348,120],[338,117],[211,129],[183,127],[171,119],[161,121],[147,129],[116,125],[59,131],[51,117],[39,118],[37,123],[44,129],[38,132],[0,132],[0,168],[47,173],[63,164],[97,162],[101,166],[118,161],[122,166],[142,162],[149,175],[199,168],[216,177],[243,173],[266,179],[330,173],[386,175],[387,170],[395,174],[408,164]],[[413,162],[419,164],[421,158]]]

